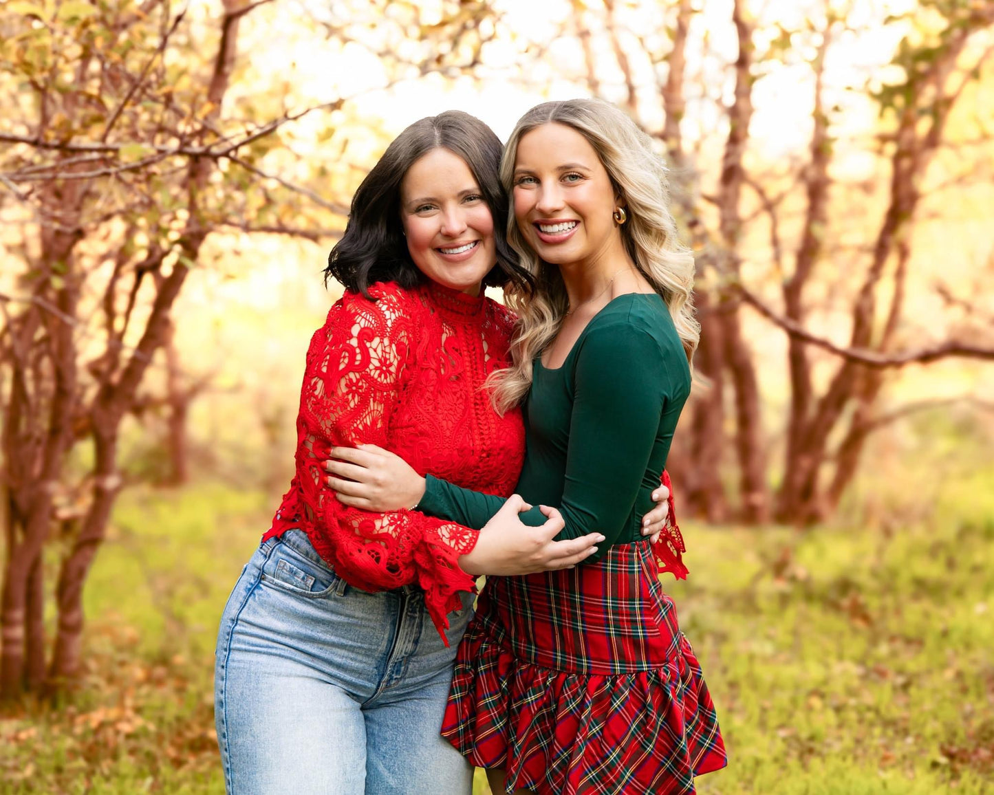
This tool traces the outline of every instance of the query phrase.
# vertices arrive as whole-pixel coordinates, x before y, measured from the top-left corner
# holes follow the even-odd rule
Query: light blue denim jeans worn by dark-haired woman
[[[225,607],[215,721],[229,795],[468,795],[439,736],[472,595],[446,648],[408,586],[348,585],[300,531],[264,542]]]

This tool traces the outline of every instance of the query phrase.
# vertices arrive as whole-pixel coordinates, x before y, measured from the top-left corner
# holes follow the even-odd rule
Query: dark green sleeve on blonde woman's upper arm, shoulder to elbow
[[[559,539],[597,531],[596,555],[628,530],[652,454],[668,377],[663,353],[627,323],[592,329],[581,341],[574,386]]]

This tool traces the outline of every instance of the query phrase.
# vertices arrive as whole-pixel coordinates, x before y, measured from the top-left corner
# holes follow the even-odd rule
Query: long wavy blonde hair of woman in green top
[[[601,99],[567,99],[536,105],[515,126],[501,160],[500,176],[511,201],[507,239],[535,287],[509,285],[505,303],[518,314],[511,340],[512,365],[487,380],[494,406],[504,412],[528,394],[532,365],[563,325],[570,308],[560,269],[541,259],[518,229],[514,214],[514,163],[522,136],[543,124],[572,127],[593,147],[628,215],[619,227],[635,267],[662,296],[691,361],[701,336],[694,318],[694,257],[676,235],[669,209],[666,165],[651,139],[620,109]]]

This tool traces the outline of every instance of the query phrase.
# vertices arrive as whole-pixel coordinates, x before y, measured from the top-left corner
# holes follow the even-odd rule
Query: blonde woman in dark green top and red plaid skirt
[[[638,522],[690,393],[699,333],[665,169],[621,111],[575,99],[525,114],[501,179],[508,239],[536,280],[532,294],[506,291],[518,314],[513,364],[489,379],[499,411],[524,404],[515,491],[559,508],[559,538],[605,540],[575,568],[488,579],[442,734],[488,769],[495,792],[694,792],[696,775],[726,764],[725,747],[657,576],[685,572],[679,540],[662,546],[660,565]],[[425,513],[479,528],[505,503],[383,458]]]

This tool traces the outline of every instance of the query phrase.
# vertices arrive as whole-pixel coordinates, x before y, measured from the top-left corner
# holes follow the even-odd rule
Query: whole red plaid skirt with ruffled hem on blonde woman
[[[726,765],[715,706],[649,542],[489,577],[442,735],[539,795],[679,795]]]

